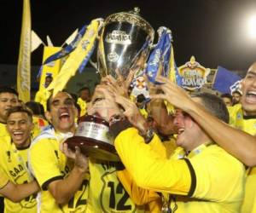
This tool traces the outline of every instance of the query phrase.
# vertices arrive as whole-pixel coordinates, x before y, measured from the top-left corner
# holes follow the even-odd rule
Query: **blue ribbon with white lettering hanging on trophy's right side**
[[[159,82],[155,81],[155,78],[159,71],[160,63],[163,66],[162,75],[167,77],[169,74],[172,32],[165,26],[161,26],[157,32],[159,34],[159,41],[149,56],[146,74],[150,82],[159,84]]]

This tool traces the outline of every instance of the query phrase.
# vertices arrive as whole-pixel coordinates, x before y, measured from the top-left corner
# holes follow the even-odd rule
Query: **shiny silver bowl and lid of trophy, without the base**
[[[139,15],[138,8],[109,15],[100,35],[97,70],[102,77],[114,78],[119,70],[126,78],[138,60],[143,58],[142,65],[146,62],[153,40],[154,29]]]

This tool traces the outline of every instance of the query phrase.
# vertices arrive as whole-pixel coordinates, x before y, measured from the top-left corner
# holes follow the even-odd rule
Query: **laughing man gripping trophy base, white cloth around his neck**
[[[32,141],[29,164],[41,188],[38,210],[44,212],[84,212],[88,184],[88,160],[76,147],[74,160],[61,152],[61,144],[73,136],[77,110],[71,95],[58,92],[47,101],[46,127]]]

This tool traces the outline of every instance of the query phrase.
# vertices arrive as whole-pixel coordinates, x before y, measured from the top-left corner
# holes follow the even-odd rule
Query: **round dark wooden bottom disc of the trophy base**
[[[83,136],[73,136],[68,138],[65,143],[67,143],[67,147],[73,151],[75,150],[75,147],[79,147],[81,153],[84,153],[86,156],[91,158],[105,161],[120,161],[113,145],[106,142],[97,141]]]

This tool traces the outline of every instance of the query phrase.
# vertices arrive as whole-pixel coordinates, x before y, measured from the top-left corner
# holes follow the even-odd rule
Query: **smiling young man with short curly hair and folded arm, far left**
[[[0,149],[0,170],[9,180],[0,190],[5,196],[4,212],[35,213],[39,187],[27,169],[27,153],[33,129],[32,112],[20,106],[9,108],[6,127],[10,137],[1,141]]]

